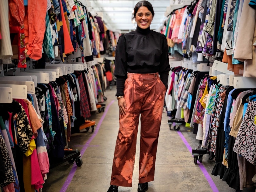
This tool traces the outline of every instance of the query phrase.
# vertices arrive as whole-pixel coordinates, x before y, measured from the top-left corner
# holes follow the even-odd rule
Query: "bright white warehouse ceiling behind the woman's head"
[[[103,20],[112,31],[130,32],[136,29],[132,22],[133,8],[138,1],[133,0],[91,0],[86,1],[92,15],[103,16]],[[89,2],[89,3],[88,3]],[[150,28],[157,30],[164,21],[164,12],[170,0],[149,0],[153,5],[155,16]]]

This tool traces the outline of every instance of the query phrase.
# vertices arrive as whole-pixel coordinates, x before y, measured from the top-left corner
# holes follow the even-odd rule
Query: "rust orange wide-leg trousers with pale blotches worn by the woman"
[[[166,88],[158,73],[128,73],[124,98],[126,114],[119,114],[119,132],[111,185],[131,187],[140,117],[139,183],[154,180],[157,142]]]

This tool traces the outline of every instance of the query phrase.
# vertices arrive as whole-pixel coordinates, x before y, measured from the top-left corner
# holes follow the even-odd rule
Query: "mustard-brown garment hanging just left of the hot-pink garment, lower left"
[[[31,159],[23,155],[23,183],[26,192],[35,192],[34,185],[31,185]]]

